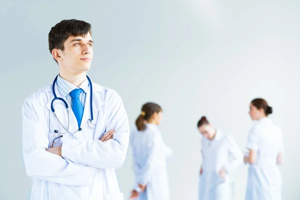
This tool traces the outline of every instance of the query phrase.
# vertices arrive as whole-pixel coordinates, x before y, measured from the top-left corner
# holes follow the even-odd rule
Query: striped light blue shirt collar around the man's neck
[[[76,88],[81,88],[85,93],[87,93],[87,89],[89,85],[87,78],[85,78],[85,80],[78,87],[76,87],[72,83],[60,77],[60,75],[58,75],[56,83],[57,83],[58,90],[61,92],[61,94],[64,94],[64,97]]]

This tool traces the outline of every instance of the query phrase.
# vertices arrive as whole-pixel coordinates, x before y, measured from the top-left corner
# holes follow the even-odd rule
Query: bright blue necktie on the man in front
[[[70,92],[70,96],[72,98],[72,110],[78,122],[78,127],[80,127],[82,115],[83,115],[83,106],[79,99],[80,93],[82,89],[73,89]]]

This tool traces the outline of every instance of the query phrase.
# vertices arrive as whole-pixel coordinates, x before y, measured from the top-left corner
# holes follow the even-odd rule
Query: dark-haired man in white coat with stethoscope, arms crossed
[[[120,96],[86,76],[93,57],[90,29],[76,19],[51,28],[49,50],[59,74],[24,100],[31,199],[123,199],[114,169],[125,159],[128,119]]]

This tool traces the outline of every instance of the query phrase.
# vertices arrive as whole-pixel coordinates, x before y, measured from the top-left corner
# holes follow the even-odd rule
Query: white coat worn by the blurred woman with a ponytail
[[[144,131],[133,130],[130,135],[133,151],[135,187],[147,184],[139,200],[169,200],[166,160],[172,155],[155,124],[146,124]]]

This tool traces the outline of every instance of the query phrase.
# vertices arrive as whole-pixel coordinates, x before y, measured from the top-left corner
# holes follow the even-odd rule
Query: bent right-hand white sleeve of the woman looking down
[[[227,173],[232,172],[238,165],[242,163],[242,153],[234,142],[233,137],[227,136],[228,160],[224,165]]]

